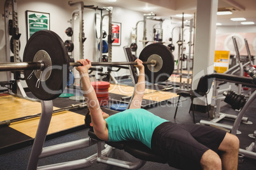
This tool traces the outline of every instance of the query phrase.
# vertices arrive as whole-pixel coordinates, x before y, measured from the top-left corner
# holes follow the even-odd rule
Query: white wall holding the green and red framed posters
[[[66,41],[67,39],[71,39],[68,37],[64,30],[70,27],[70,23],[68,20],[71,19],[71,13],[73,10],[77,10],[78,7],[71,7],[68,5],[69,0],[41,0],[41,1],[32,1],[32,0],[18,0],[17,2],[17,11],[18,11],[18,27],[19,32],[22,34],[20,37],[20,57],[23,58],[25,44],[27,42],[27,32],[26,32],[26,22],[25,22],[25,11],[39,11],[50,13],[50,30],[56,32],[62,41]],[[104,4],[96,4],[92,1],[85,1],[85,5],[94,5],[102,8]],[[0,6],[4,6],[4,1],[0,1]],[[0,12],[4,13],[4,9],[0,8]],[[112,22],[120,22],[122,23],[122,37],[121,37],[121,45],[113,46],[112,51],[112,61],[125,61],[125,55],[123,51],[123,46],[130,46],[131,44],[131,31],[132,27],[135,27],[136,22],[138,20],[143,20],[143,13],[138,13],[135,11],[125,10],[122,8],[118,8],[113,6],[113,15]],[[83,20],[84,20],[84,32],[85,37],[87,37],[84,42],[84,58],[89,58],[89,60],[97,61],[99,58],[99,51],[97,49],[97,44],[99,40],[96,39],[95,36],[95,25],[94,25],[94,10],[86,9],[83,11]],[[103,13],[106,14],[106,13]],[[108,18],[104,20],[103,25],[108,25]],[[74,35],[78,35],[79,27],[76,24],[74,28]],[[105,29],[108,32],[108,29]],[[6,51],[5,51],[5,30],[4,30],[4,17],[1,17],[0,23],[0,54],[1,54],[1,62],[6,62]],[[141,33],[142,34],[142,33]],[[77,37],[75,37],[77,40]],[[75,50],[79,51],[78,42],[75,43]],[[53,47],[54,48],[54,47]],[[9,51],[8,51],[9,53]],[[11,53],[11,52],[10,52]],[[12,55],[12,54],[11,54]],[[75,60],[79,59],[79,54],[76,53],[74,56]],[[118,72],[118,75],[128,74],[128,70],[121,70]],[[6,73],[1,72],[0,81],[6,81]],[[22,82],[24,84],[24,82]],[[26,86],[24,84],[24,86]]]

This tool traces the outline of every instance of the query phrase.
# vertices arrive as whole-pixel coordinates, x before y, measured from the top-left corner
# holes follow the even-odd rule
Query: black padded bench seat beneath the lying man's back
[[[88,135],[90,136],[90,138],[94,138],[95,140],[100,140],[99,138],[97,138],[96,134],[90,130],[88,131]],[[104,142],[110,145],[111,147],[118,148],[120,150],[124,150],[125,152],[128,152],[129,154],[136,157],[137,159],[151,161],[151,162],[159,162],[162,164],[167,163],[164,157],[154,154],[150,148],[146,147],[146,145],[144,145],[140,141],[118,141],[118,142],[104,141]]]

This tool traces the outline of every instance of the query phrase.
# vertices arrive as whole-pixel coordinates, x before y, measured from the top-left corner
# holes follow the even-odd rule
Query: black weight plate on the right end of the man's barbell
[[[151,72],[148,67],[145,67],[146,81],[152,83],[166,81],[174,70],[173,53],[163,44],[149,44],[141,51],[139,59],[147,62],[151,55],[159,55],[162,58],[162,68],[158,72]]]

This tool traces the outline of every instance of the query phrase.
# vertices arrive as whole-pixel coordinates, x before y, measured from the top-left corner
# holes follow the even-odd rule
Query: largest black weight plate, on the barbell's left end
[[[69,79],[68,51],[62,39],[51,30],[39,30],[30,37],[24,49],[23,61],[32,62],[39,50],[45,50],[50,56],[52,73],[36,88],[38,79],[34,74],[31,79],[27,79],[32,70],[24,70],[25,81],[34,96],[40,100],[53,100],[63,92]]]

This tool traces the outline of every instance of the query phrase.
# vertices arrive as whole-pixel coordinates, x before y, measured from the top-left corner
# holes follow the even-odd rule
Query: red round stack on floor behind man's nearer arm
[[[97,99],[99,100],[100,106],[108,105],[109,95],[108,88],[110,88],[110,83],[106,81],[95,81],[91,82],[92,87],[96,92]]]

